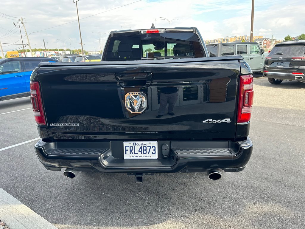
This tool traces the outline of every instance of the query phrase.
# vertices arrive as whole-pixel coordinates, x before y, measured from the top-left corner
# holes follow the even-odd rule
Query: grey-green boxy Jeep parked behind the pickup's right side
[[[207,44],[210,56],[241,55],[250,65],[253,72],[261,72],[264,67],[264,49],[257,42],[230,42]]]

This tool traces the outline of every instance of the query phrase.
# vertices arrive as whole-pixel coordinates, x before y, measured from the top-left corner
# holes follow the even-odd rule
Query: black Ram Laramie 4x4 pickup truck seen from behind
[[[250,159],[252,71],[212,57],[198,30],[113,31],[101,62],[41,63],[30,82],[48,170],[134,175],[242,171]],[[168,107],[167,107],[168,104]]]

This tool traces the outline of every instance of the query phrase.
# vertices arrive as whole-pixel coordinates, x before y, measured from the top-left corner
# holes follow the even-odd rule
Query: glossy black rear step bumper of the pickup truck
[[[158,159],[123,159],[123,153],[120,153],[122,142],[47,143],[40,140],[35,144],[35,151],[48,170],[72,168],[108,173],[187,173],[213,168],[223,169],[225,172],[242,171],[253,149],[249,137],[238,142],[168,141],[170,154],[167,157],[159,151]],[[163,143],[160,142],[160,145]]]

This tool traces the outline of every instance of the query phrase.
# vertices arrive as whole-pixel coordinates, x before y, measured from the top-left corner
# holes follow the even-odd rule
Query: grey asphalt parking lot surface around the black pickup
[[[304,228],[305,83],[261,77],[254,90],[253,154],[240,173],[68,179],[42,166],[31,141],[0,151],[0,187],[59,229]],[[0,149],[38,137],[30,107],[29,98],[0,102]]]

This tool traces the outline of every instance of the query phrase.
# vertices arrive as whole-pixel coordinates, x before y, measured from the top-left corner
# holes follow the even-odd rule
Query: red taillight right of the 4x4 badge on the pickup
[[[248,122],[251,118],[253,104],[253,76],[241,75],[239,86],[239,105],[237,122]]]

